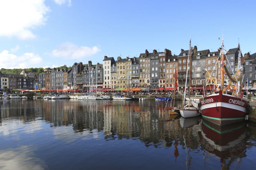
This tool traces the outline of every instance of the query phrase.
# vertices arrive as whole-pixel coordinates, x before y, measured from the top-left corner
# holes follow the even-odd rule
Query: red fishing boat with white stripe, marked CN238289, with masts
[[[221,52],[220,52],[220,67],[221,67],[221,76],[220,76],[220,86],[217,85],[217,82],[212,78],[212,75],[209,74],[207,69],[205,69],[206,73],[209,75],[209,79],[211,79],[218,88],[219,93],[212,93],[208,96],[204,96],[204,98],[200,99],[199,105],[201,105],[202,116],[215,124],[218,125],[226,125],[226,124],[233,124],[236,122],[244,121],[248,100],[243,98],[242,87],[241,87],[241,77],[243,69],[241,66],[241,50],[239,47],[239,56],[238,56],[238,69],[236,74],[233,73],[231,75],[228,72],[226,67],[226,54],[224,53],[224,45],[223,45],[223,38],[221,40]],[[218,58],[218,59],[219,59]],[[227,60],[228,61],[228,60]],[[228,63],[229,64],[229,63]],[[230,82],[225,87],[224,86],[224,79],[225,75],[228,75]],[[207,76],[207,75],[206,75]],[[209,82],[209,79],[207,83]],[[233,89],[231,86],[231,82],[235,83],[235,88]],[[206,85],[207,85],[206,83]],[[233,89],[232,95],[225,94],[227,93],[227,88],[230,87]]]

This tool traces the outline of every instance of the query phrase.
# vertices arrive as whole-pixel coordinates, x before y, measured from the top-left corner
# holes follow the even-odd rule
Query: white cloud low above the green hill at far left
[[[40,66],[42,58],[38,54],[24,53],[21,56],[10,54],[9,51],[3,50],[0,53],[0,68],[29,68]]]

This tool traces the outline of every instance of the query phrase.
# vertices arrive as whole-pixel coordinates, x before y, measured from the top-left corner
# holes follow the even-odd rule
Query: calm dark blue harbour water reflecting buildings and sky
[[[180,103],[178,103],[180,104]],[[0,100],[0,169],[255,169],[256,124],[161,101]]]

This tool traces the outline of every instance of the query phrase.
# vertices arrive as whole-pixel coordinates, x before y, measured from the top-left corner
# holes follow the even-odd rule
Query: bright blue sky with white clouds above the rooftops
[[[255,53],[254,1],[0,0],[0,68],[102,63],[165,48]]]

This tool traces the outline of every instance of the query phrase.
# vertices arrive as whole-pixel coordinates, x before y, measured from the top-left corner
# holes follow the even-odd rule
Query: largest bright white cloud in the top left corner
[[[36,35],[31,32],[38,26],[44,25],[50,8],[44,0],[10,0],[0,2],[0,36],[33,39]]]

